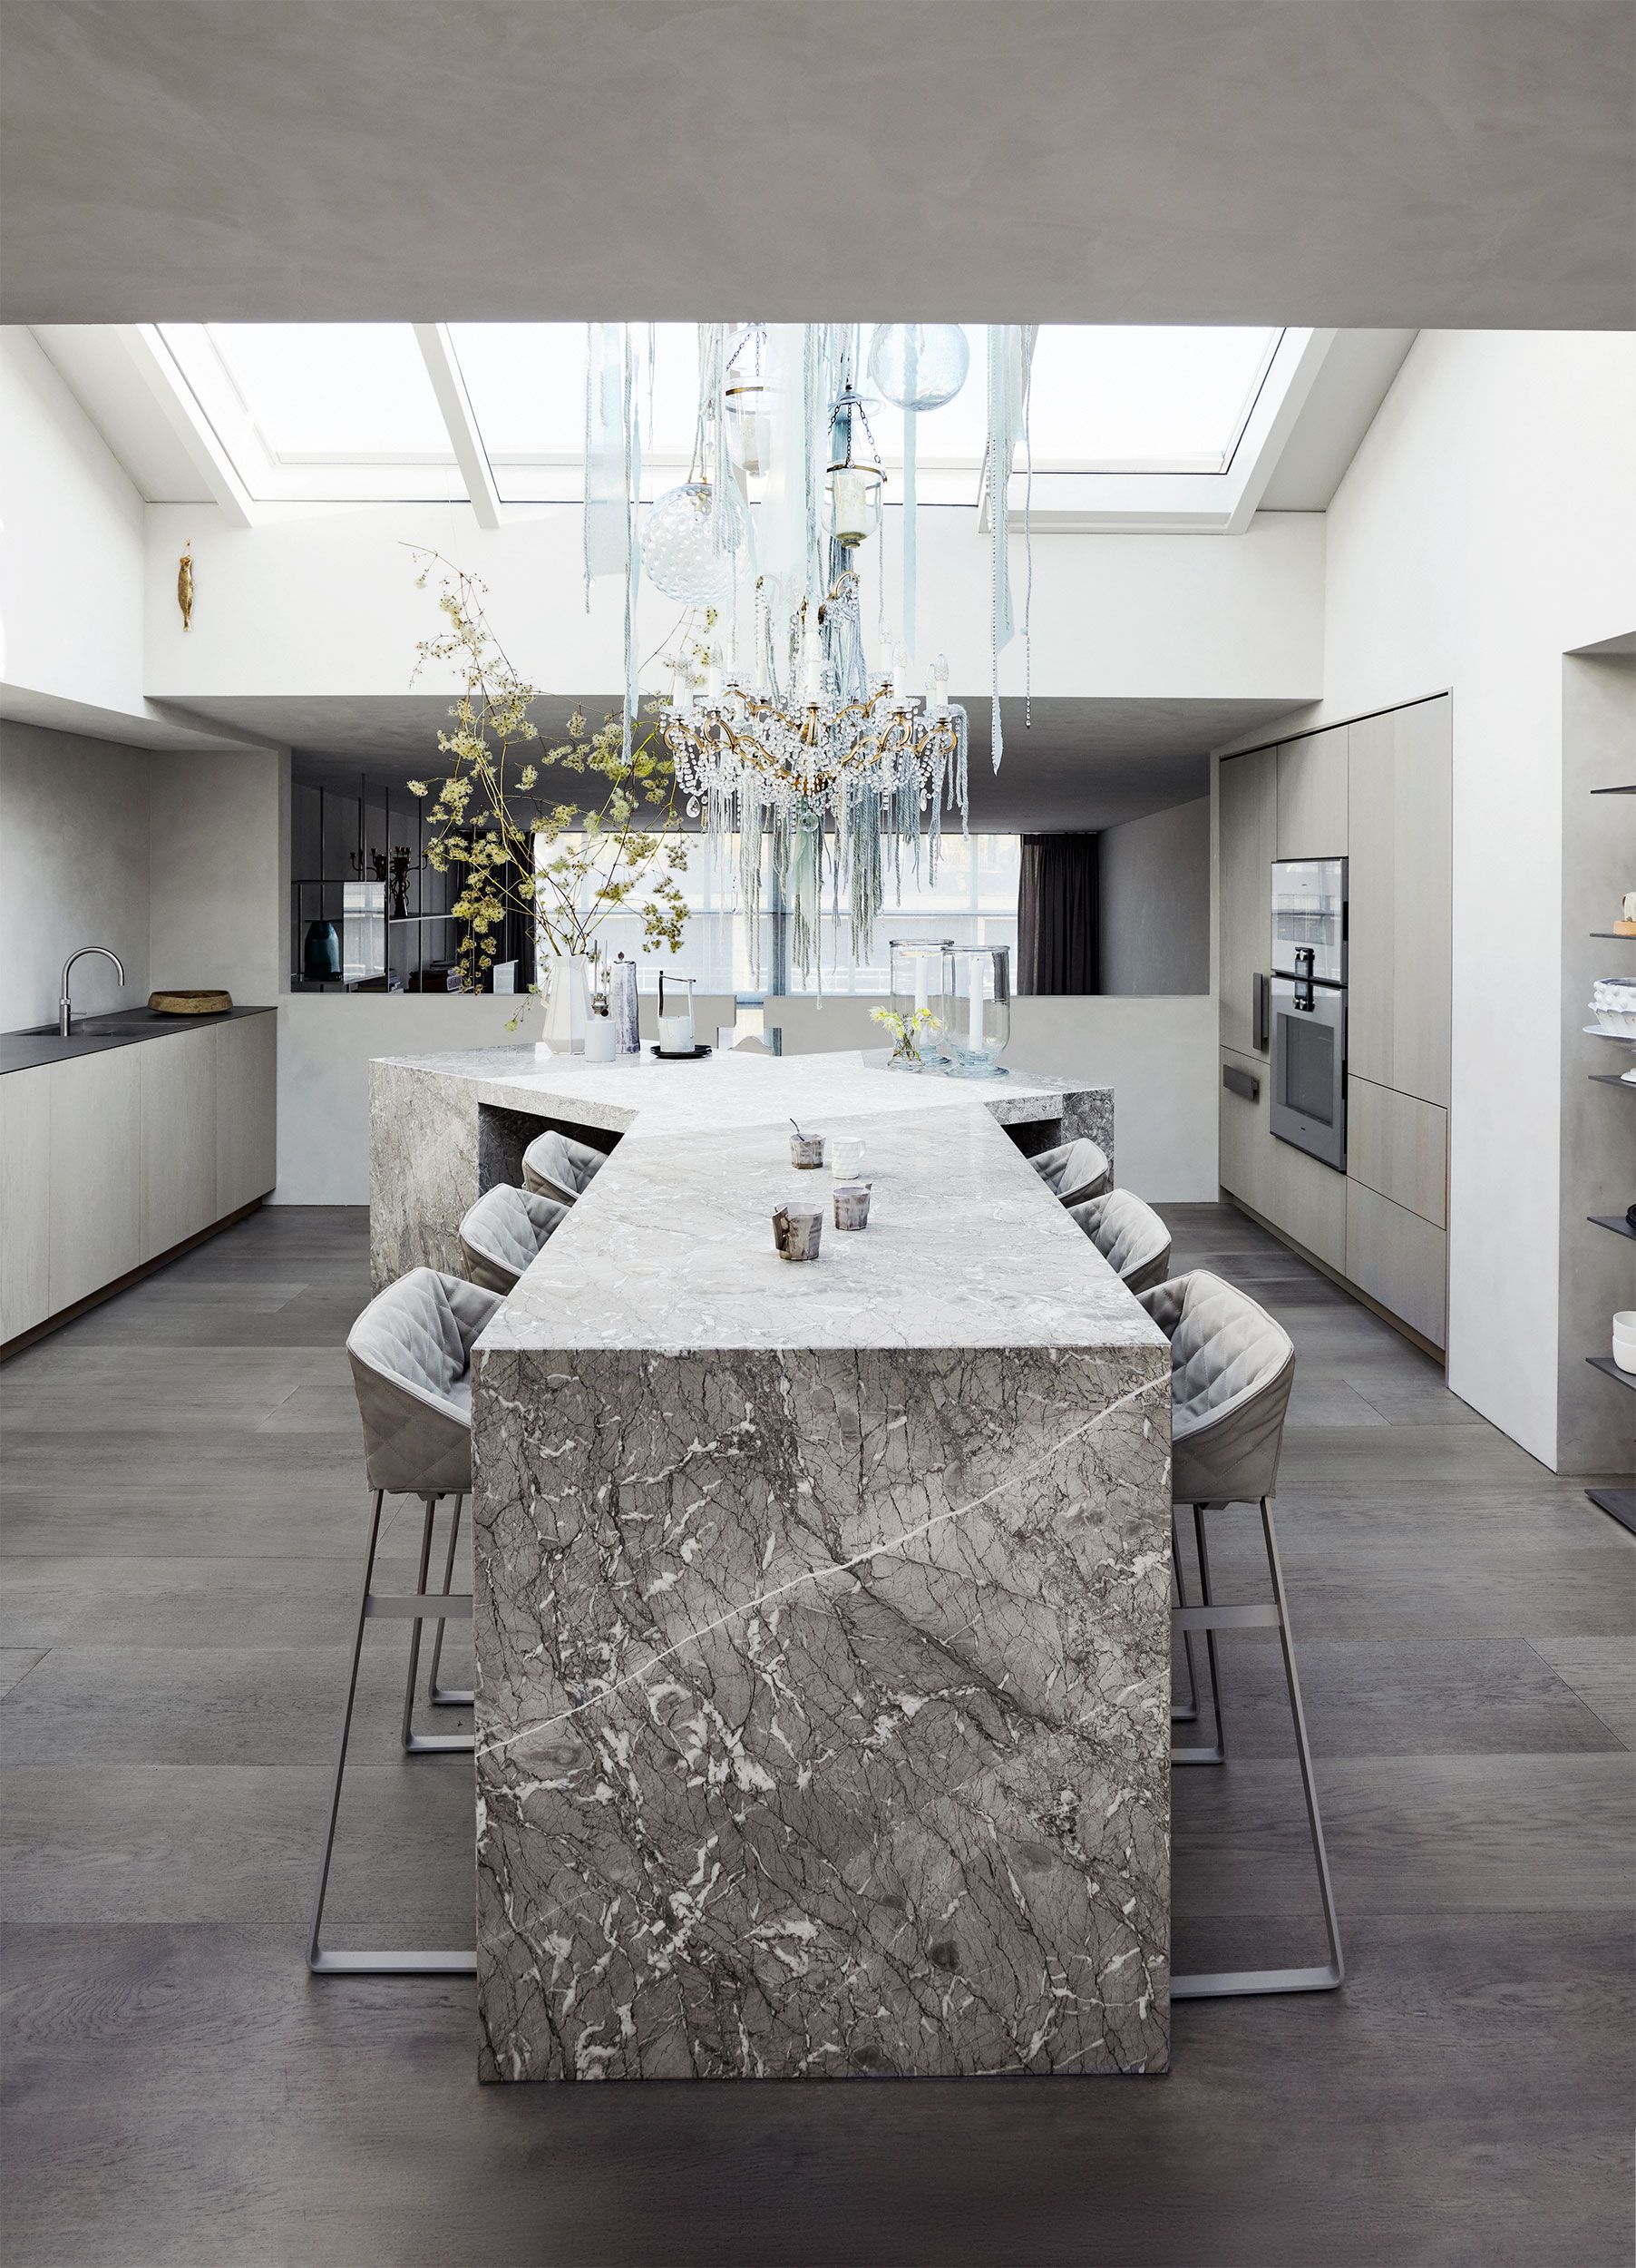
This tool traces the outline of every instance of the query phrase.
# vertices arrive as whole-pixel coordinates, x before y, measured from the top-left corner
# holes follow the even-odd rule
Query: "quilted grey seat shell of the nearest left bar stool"
[[[471,1347],[499,1293],[410,1268],[347,1334],[369,1486],[406,1497],[471,1488]]]

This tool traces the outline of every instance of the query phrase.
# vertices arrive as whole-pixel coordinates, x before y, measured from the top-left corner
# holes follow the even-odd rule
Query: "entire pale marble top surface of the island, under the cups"
[[[859,1055],[698,1064],[535,1061],[532,1048],[397,1059],[480,1100],[623,1139],[480,1352],[1140,1347],[1160,1340],[1006,1136],[1083,1084],[927,1080]],[[798,1173],[789,1120],[861,1134],[870,1225],[834,1225],[827,1170]],[[825,1207],[818,1261],[782,1261],[773,1209]]]

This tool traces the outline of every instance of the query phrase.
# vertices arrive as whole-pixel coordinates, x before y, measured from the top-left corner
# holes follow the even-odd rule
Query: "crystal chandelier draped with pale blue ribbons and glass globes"
[[[605,327],[612,333],[612,327]],[[970,349],[958,324],[877,324],[870,379],[902,411],[902,631],[886,633],[881,501],[886,467],[859,392],[859,324],[700,324],[698,420],[687,483],[668,490],[632,538],[641,451],[625,327],[623,390],[612,352],[587,363],[587,531],[591,460],[623,506],[625,540],[591,567],[625,574],[625,680],[634,689],[637,569],[691,608],[671,649],[662,735],[689,819],[727,853],[736,839],[739,905],[759,943],[764,880],[791,916],[795,966],[811,973],[825,912],[850,921],[868,955],[888,885],[922,862],[936,878],[945,814],[968,823],[968,719],[949,701],[938,655],[911,685],[915,642],[915,422],[954,399]],[[999,762],[997,655],[1011,637],[1006,479],[1026,395],[1022,331],[988,331],[986,508],[992,560],[992,760]],[[596,376],[600,372],[600,379]],[[610,404],[623,404],[614,431]],[[612,467],[612,474],[607,472]],[[623,467],[623,485],[621,485]],[[752,490],[750,483],[757,483]],[[863,635],[863,583],[879,660]],[[702,612],[702,626],[698,615]],[[725,649],[725,653],[723,653]],[[628,712],[634,692],[628,696]]]

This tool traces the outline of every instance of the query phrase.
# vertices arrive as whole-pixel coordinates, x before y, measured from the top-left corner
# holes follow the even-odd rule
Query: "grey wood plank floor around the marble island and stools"
[[[1178,2007],[1165,2080],[480,2089],[469,1984],[313,1984],[365,1218],[265,1211],[0,1377],[9,2268],[1625,2268],[1636,1542],[1255,1227],[1169,1218],[1301,1352],[1344,1996]],[[1221,1515],[1224,1594],[1251,1547]],[[401,1647],[335,1937],[469,1941],[469,1767],[397,1760]],[[1178,1776],[1178,1966],[1319,1957],[1273,1662],[1230,1644],[1235,1762]]]

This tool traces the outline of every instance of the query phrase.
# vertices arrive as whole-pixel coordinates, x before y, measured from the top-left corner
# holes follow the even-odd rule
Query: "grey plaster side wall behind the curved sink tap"
[[[143,748],[0,726],[0,1030],[57,1018],[61,971],[79,946],[75,1009],[140,1007],[150,978],[147,764]]]

